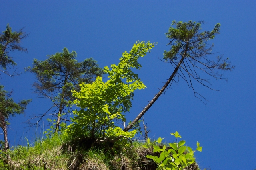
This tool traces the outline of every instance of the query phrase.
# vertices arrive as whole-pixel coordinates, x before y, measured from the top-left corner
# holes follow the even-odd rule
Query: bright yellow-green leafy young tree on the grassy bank
[[[77,98],[74,103],[80,110],[73,111],[74,118],[66,130],[73,137],[89,137],[96,143],[104,143],[120,138],[132,138],[136,130],[124,132],[116,125],[117,121],[126,121],[124,113],[132,107],[134,90],[143,89],[137,74],[131,68],[140,69],[139,57],[146,55],[154,43],[136,42],[130,53],[122,54],[118,65],[112,64],[111,70],[106,66],[104,72],[109,80],[97,77],[91,84],[80,84],[80,91],[73,91]]]

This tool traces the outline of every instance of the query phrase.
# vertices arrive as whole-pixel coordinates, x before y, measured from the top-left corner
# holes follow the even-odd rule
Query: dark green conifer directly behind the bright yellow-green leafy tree
[[[67,48],[64,48],[62,53],[48,55],[48,57],[45,61],[34,59],[32,68],[28,67],[25,70],[36,74],[37,82],[33,84],[35,92],[43,98],[50,99],[53,103],[52,108],[56,108],[57,112],[52,114],[52,117],[57,117],[55,132],[58,132],[61,120],[67,120],[62,118],[64,115],[68,115],[65,107],[76,99],[72,96],[71,91],[79,92],[78,84],[92,83],[97,76],[103,75],[103,71],[96,64],[97,61],[92,58],[78,62],[76,52],[69,53]],[[40,121],[45,115],[51,114],[46,112],[43,115],[36,115],[36,117]]]

